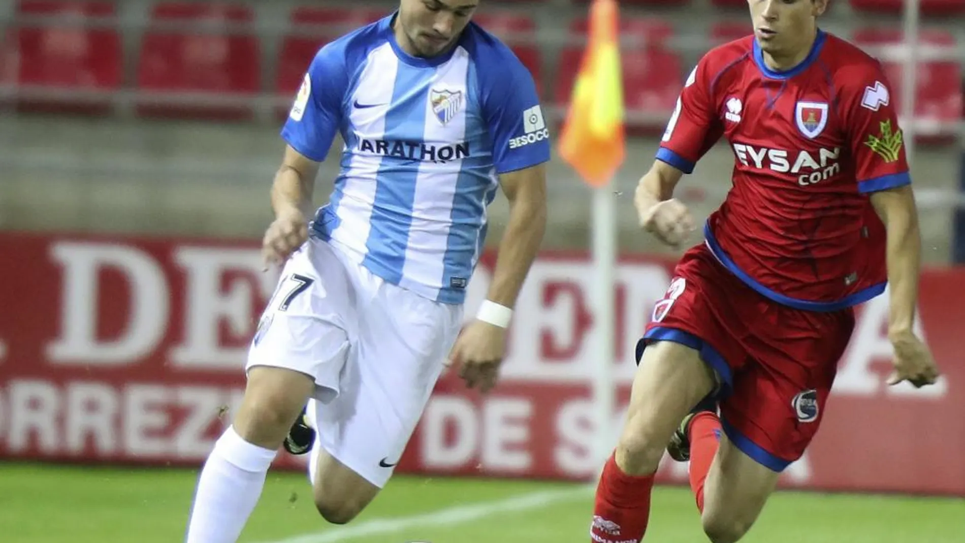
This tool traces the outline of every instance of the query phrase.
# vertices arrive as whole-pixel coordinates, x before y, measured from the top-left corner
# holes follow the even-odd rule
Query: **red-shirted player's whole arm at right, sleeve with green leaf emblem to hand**
[[[889,383],[908,380],[921,387],[934,383],[938,370],[927,347],[914,333],[922,238],[903,134],[890,84],[881,69],[855,68],[848,77],[849,84],[843,86],[841,98],[858,190],[869,195],[887,231],[888,337],[896,354],[896,372]]]

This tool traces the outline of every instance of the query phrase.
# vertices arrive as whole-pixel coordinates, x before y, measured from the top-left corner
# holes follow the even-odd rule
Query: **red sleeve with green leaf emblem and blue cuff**
[[[891,86],[879,65],[849,68],[841,88],[855,180],[863,193],[911,183]]]

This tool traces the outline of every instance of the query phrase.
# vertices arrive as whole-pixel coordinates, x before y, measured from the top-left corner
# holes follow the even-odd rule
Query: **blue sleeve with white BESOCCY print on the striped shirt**
[[[509,48],[500,52],[481,51],[478,68],[492,161],[505,174],[548,162],[550,141],[533,76]]]

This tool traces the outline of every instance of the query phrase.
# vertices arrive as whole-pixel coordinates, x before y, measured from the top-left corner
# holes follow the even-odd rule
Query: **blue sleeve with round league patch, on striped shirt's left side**
[[[345,47],[329,43],[312,61],[291,105],[282,138],[292,149],[321,162],[342,124],[342,102],[348,88]]]

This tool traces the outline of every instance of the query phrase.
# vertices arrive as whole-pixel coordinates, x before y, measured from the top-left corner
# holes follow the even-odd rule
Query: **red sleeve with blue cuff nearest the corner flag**
[[[694,171],[697,161],[723,134],[711,95],[715,74],[710,72],[709,64],[708,56],[704,56],[690,72],[657,150],[657,160],[684,174]]]

